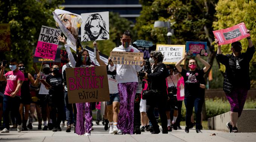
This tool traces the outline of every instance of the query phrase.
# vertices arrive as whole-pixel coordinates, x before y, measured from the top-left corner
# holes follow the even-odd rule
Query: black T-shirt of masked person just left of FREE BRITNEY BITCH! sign
[[[53,96],[62,96],[63,95],[63,79],[61,73],[58,73],[57,75],[48,75],[46,77],[46,82],[51,85],[51,88],[49,88],[49,94]]]

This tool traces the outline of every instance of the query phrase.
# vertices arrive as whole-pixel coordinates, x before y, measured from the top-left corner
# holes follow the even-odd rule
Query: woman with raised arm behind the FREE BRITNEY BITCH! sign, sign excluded
[[[94,63],[91,63],[89,52],[82,49],[78,53],[77,60],[75,61],[72,52],[70,51],[70,46],[67,44],[65,37],[58,36],[58,40],[65,44],[66,51],[72,67],[93,67]],[[76,103],[76,128],[75,132],[78,135],[91,135],[91,123],[92,123],[92,112],[90,102],[86,103]],[[85,124],[84,124],[85,123]]]

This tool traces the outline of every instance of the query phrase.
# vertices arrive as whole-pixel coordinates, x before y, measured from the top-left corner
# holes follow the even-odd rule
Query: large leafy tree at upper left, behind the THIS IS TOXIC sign
[[[55,27],[52,12],[63,2],[64,0],[0,1],[0,23],[11,24],[11,51],[0,52],[0,60],[17,58],[31,67],[31,54],[37,46],[41,26]]]

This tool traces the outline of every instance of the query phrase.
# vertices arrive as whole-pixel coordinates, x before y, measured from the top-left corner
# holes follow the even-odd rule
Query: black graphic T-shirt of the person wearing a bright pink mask
[[[184,78],[185,83],[185,97],[188,96],[201,96],[200,83],[203,82],[203,69],[196,69],[195,71],[182,69],[180,73]],[[201,83],[202,84],[202,83]]]

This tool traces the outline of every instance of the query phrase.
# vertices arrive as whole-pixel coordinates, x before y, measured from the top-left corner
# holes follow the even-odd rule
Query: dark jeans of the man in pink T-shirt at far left
[[[9,112],[14,115],[16,118],[16,123],[21,125],[21,116],[19,112],[20,108],[20,97],[15,96],[14,98],[4,95],[3,97],[3,127],[6,129],[10,129],[9,124]]]

